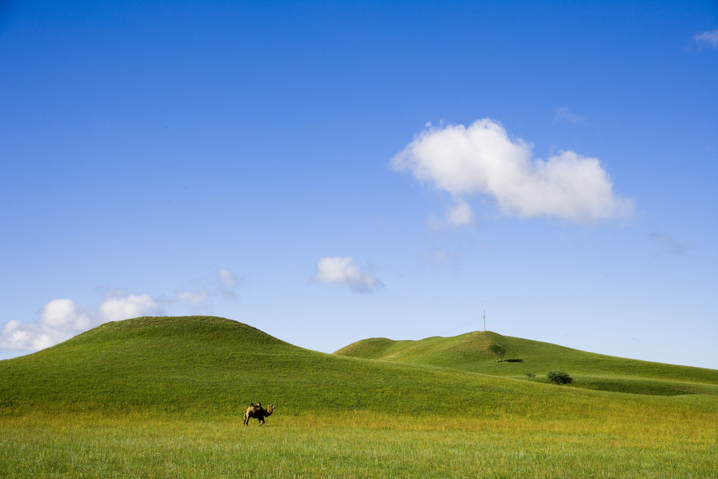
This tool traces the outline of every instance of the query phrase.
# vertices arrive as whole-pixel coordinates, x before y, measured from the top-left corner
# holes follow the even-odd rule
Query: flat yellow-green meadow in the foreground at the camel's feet
[[[715,477],[716,430],[705,427],[703,414],[628,416],[582,422],[329,413],[271,417],[265,427],[243,427],[230,416],[25,416],[2,424],[0,477]]]

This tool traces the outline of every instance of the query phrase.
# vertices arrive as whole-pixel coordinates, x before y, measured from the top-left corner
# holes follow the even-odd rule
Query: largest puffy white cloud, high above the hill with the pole
[[[633,213],[633,200],[617,197],[596,158],[560,152],[532,159],[533,145],[512,141],[498,122],[485,118],[463,125],[429,128],[391,160],[422,184],[449,192],[457,205],[447,220],[472,218],[465,197],[488,195],[501,213],[519,218],[549,216],[588,223]]]

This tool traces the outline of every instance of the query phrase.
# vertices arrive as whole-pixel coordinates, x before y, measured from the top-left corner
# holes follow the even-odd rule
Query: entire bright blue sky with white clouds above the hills
[[[0,6],[0,357],[137,315],[718,368],[718,4]],[[466,324],[469,323],[469,324]]]

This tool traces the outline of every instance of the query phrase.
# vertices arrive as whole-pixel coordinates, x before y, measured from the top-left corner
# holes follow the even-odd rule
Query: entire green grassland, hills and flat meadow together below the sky
[[[490,332],[328,355],[140,317],[0,361],[0,477],[709,478],[717,394],[718,371]],[[276,406],[263,427],[250,401]]]

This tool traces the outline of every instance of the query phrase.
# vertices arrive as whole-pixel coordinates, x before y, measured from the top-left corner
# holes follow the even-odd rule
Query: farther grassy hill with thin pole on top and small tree
[[[497,362],[488,352],[492,344],[503,345],[504,361]],[[715,387],[718,371],[714,369],[587,353],[491,331],[418,341],[370,338],[345,346],[334,354],[512,378],[525,377],[528,371],[538,375],[538,381],[544,380],[544,375],[552,369],[563,369],[574,378],[574,387],[584,389],[659,396],[718,394]]]

